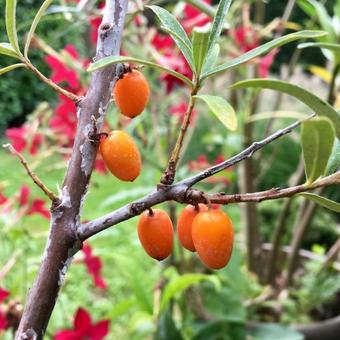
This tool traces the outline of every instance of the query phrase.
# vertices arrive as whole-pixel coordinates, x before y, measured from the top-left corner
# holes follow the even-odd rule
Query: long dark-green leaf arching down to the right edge
[[[335,131],[338,139],[340,139],[340,114],[336,110],[334,110],[332,106],[317,97],[315,94],[297,85],[273,79],[250,79],[240,81],[231,86],[232,89],[240,89],[246,87],[260,87],[262,89],[277,90],[299,99],[308,107],[310,107],[311,110],[317,115],[329,118],[335,126]]]

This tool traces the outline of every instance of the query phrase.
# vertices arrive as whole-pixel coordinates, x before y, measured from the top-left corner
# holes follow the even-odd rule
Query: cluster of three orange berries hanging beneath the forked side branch
[[[177,236],[181,245],[196,252],[210,269],[221,269],[230,260],[234,231],[226,213],[204,204],[188,205],[177,223]],[[152,258],[167,258],[173,247],[174,229],[168,214],[160,209],[144,212],[138,223],[138,237]]]

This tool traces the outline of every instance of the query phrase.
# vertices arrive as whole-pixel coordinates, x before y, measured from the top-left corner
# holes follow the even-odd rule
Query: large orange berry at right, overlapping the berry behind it
[[[201,261],[210,269],[221,269],[230,260],[234,231],[222,210],[200,212],[192,224],[192,239]]]

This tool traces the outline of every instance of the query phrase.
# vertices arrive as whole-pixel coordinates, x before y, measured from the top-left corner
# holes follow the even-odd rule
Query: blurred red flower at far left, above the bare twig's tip
[[[14,149],[21,152],[28,146],[27,140],[30,139],[30,131],[26,125],[22,125],[19,128],[9,128],[5,132],[5,136],[10,140]],[[43,141],[43,137],[39,134],[35,134],[32,137],[32,142],[29,145],[29,153],[35,155],[38,151],[40,144]]]

